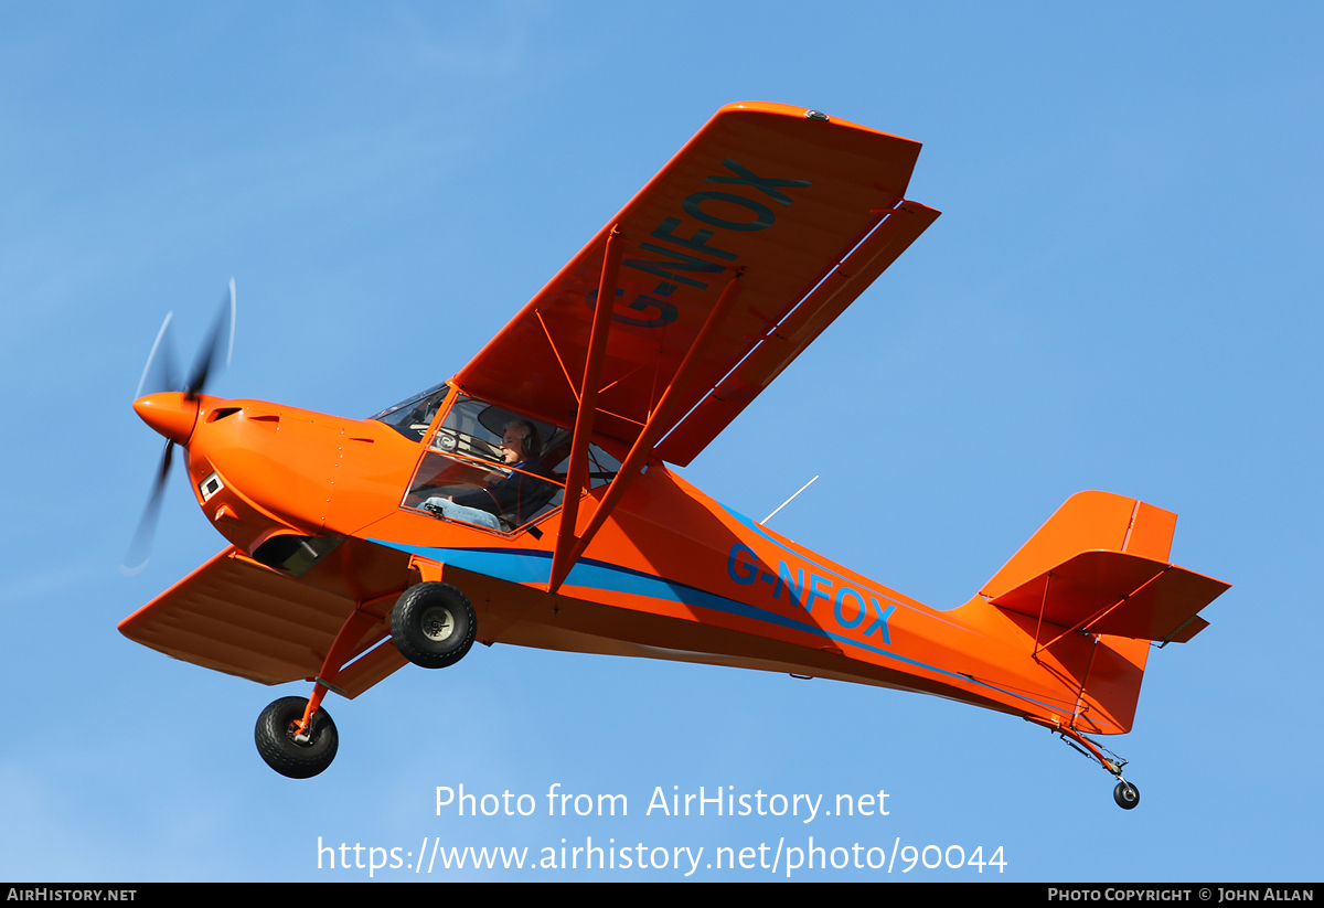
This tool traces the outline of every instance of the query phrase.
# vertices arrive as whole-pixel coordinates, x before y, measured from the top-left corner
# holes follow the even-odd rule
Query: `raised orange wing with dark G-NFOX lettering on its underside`
[[[651,417],[651,453],[688,465],[937,217],[904,199],[919,150],[802,107],[723,107],[455,383],[567,426],[592,384],[594,434],[633,445]]]

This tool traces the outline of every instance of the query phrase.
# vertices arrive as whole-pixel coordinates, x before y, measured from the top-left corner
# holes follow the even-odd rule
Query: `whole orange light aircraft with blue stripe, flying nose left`
[[[257,723],[262,758],[294,778],[335,757],[328,691],[451,666],[477,639],[961,700],[1059,733],[1136,806],[1125,761],[1087,735],[1131,729],[1151,642],[1189,641],[1227,589],[1169,564],[1174,514],[1074,495],[939,612],[669,469],[937,218],[906,199],[919,150],[802,107],[723,107],[450,381],[368,420],[203,394],[232,285],[188,380],[134,404],[167,445],[130,561],[176,445],[230,545],[120,631],[263,684],[312,682]]]

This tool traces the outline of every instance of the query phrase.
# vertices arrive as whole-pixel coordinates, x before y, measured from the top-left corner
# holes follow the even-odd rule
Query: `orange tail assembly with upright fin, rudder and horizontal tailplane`
[[[1129,729],[1149,641],[1189,641],[1209,626],[1197,613],[1229,586],[1168,563],[1176,525],[1176,514],[1141,500],[1079,492],[980,590],[1034,635],[1035,653],[1066,659],[1087,724],[1095,712]],[[1067,655],[1071,631],[1099,635],[1087,657]]]

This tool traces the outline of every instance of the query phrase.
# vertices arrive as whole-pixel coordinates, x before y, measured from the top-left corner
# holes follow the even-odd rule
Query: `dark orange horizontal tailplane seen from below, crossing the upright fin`
[[[1185,642],[1207,627],[1197,613],[1229,584],[1125,552],[1080,552],[989,601],[1061,627]]]

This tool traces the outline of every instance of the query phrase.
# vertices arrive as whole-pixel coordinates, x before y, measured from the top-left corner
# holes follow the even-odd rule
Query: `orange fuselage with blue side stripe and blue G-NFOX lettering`
[[[1035,653],[1034,619],[981,597],[931,609],[722,507],[661,461],[548,593],[561,510],[510,533],[404,508],[424,445],[383,422],[205,396],[155,394],[136,408],[187,443],[195,496],[237,549],[282,533],[361,540],[334,580],[299,581],[352,601],[399,593],[426,564],[474,602],[485,643],[785,671],[1083,732],[1131,728],[1147,641],[1071,634]],[[580,527],[604,491],[585,492]]]

